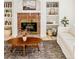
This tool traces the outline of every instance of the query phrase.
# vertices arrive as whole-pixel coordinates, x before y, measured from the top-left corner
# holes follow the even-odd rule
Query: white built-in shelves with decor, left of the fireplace
[[[4,30],[12,30],[12,1],[4,1]]]

